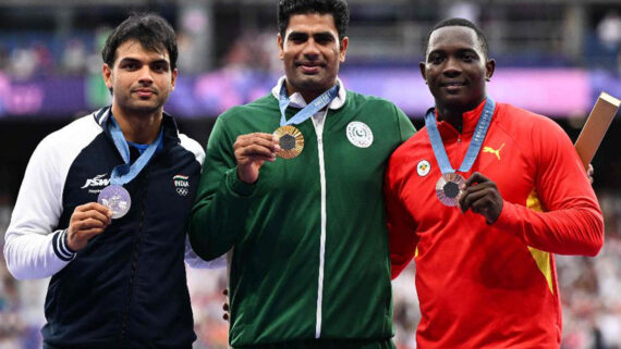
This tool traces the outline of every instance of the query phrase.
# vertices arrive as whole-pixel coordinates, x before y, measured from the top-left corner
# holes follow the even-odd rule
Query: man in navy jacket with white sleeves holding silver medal
[[[7,264],[20,279],[51,276],[45,348],[191,348],[186,221],[204,152],[162,110],[176,78],[175,35],[157,15],[134,15],[102,57],[112,105],[35,150]],[[121,217],[97,202],[114,185],[131,199]]]

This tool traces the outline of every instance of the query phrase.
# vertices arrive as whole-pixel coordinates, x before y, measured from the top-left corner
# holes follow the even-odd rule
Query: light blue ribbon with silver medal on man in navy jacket
[[[110,186],[104,188],[97,197],[97,202],[107,207],[112,211],[112,219],[124,216],[132,207],[132,198],[130,192],[123,185],[134,179],[141,171],[149,163],[156,150],[160,147],[163,138],[163,128],[160,129],[156,141],[151,142],[148,148],[130,165],[130,147],[125,141],[123,132],[112,115],[110,115],[110,135],[114,141],[114,146],[125,162],[112,170],[110,175]]]

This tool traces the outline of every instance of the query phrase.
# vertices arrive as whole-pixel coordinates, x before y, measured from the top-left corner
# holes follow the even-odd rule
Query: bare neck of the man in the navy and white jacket
[[[150,145],[156,140],[162,120],[161,109],[145,114],[129,114],[112,105],[112,114],[125,140],[141,145]]]

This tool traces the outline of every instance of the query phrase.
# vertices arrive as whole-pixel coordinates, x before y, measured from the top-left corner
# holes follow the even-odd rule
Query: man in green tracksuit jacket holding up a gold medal
[[[344,0],[281,0],[278,16],[285,76],[218,117],[192,246],[206,260],[233,250],[234,348],[393,348],[382,183],[415,129],[338,79]]]

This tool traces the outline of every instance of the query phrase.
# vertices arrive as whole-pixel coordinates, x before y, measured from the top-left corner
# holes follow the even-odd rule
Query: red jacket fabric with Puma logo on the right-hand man
[[[483,105],[463,115],[463,135],[438,123],[453,169],[464,159]],[[430,164],[427,174],[417,172],[423,160]],[[586,255],[601,248],[604,220],[580,159],[553,121],[497,103],[478,158],[462,175],[473,172],[494,180],[504,200],[491,225],[438,200],[441,173],[426,128],[390,159],[385,194],[392,277],[417,249],[418,348],[558,348],[553,254],[543,254],[552,291],[528,246]],[[546,212],[526,208],[533,190]]]

